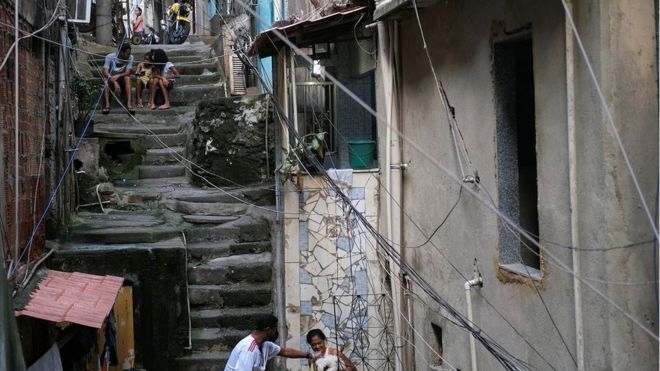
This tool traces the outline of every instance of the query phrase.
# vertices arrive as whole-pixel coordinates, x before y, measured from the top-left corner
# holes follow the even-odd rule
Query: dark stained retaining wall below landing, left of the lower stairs
[[[48,268],[130,277],[136,361],[147,370],[168,370],[188,333],[185,254],[184,248],[57,251]]]

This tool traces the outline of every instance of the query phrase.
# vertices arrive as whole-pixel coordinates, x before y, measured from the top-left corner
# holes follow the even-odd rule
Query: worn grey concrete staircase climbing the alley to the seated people
[[[187,343],[190,335],[192,349],[182,352],[171,369],[223,370],[231,348],[254,327],[255,316],[272,312],[269,218],[274,215],[267,209],[274,209],[274,192],[272,185],[200,189],[189,182],[190,164],[177,156],[185,156],[195,104],[223,97],[226,90],[217,63],[195,62],[213,55],[208,46],[157,47],[182,74],[171,94],[173,107],[138,108],[131,116],[113,103],[110,114],[95,116],[100,151],[112,159],[108,166],[124,173],[113,173],[110,207],[116,210],[79,213],[68,243],[75,249],[92,243],[106,249],[183,245],[192,328],[180,340]],[[134,47],[135,60],[146,51]],[[138,164],[126,170],[131,161]]]

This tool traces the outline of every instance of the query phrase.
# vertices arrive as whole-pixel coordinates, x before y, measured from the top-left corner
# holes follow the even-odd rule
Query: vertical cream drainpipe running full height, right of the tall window
[[[573,2],[567,0],[567,8],[572,12]],[[568,184],[571,213],[571,246],[579,245],[578,200],[577,200],[577,159],[575,134],[575,44],[573,30],[565,21],[566,38],[566,122],[568,130]],[[582,318],[582,276],[580,252],[571,251],[573,262],[573,305],[575,312],[575,347],[577,355],[577,370],[584,370],[584,324]]]

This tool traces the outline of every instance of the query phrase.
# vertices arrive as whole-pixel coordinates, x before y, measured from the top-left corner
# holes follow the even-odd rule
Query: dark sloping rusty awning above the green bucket
[[[296,46],[329,42],[344,32],[353,32],[353,26],[366,11],[366,6],[358,6],[338,11],[314,20],[299,21],[282,27],[273,27],[257,35],[248,54],[270,57],[286,44],[277,32],[287,37]]]

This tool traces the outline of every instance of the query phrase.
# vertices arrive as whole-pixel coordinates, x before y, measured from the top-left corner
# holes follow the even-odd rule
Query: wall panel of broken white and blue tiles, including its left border
[[[386,370],[389,350],[382,344],[391,333],[391,302],[374,238],[320,177],[303,183],[285,198],[286,345],[309,350],[305,335],[319,328],[356,364]],[[341,189],[375,227],[378,174],[354,172],[352,184]],[[306,370],[307,363],[289,360],[287,367]]]

